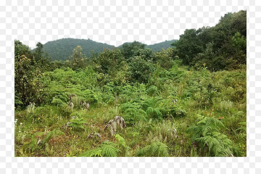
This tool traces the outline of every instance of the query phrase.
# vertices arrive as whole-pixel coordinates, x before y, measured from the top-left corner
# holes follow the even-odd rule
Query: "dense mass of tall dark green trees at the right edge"
[[[186,29],[172,44],[183,64],[206,63],[214,71],[246,64],[246,13],[246,10],[227,13],[213,27]]]

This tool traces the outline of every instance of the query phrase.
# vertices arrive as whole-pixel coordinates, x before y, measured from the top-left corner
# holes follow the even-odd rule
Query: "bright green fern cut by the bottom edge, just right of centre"
[[[162,142],[153,142],[151,145],[140,149],[136,156],[168,157],[168,146]]]

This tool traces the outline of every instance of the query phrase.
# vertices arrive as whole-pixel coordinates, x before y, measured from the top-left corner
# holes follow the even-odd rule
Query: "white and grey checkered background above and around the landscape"
[[[14,39],[34,48],[60,38],[119,46],[179,39],[247,10],[248,157],[14,157]],[[259,1],[12,1],[0,4],[0,173],[261,173],[261,3]]]

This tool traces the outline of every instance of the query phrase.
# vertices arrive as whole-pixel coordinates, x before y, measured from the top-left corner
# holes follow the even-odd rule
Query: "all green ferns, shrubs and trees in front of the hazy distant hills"
[[[77,45],[53,61],[14,40],[15,156],[245,157],[246,37],[241,10],[160,51]]]

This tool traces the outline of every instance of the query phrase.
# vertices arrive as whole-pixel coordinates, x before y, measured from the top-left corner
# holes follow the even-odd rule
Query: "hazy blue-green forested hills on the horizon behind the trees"
[[[167,49],[171,47],[171,43],[175,42],[176,39],[170,40],[170,41],[164,41],[157,44],[152,45],[146,45],[145,47],[153,49],[153,51],[158,52],[161,50],[161,48]],[[103,48],[108,47],[109,49],[112,49],[112,45],[100,43],[93,41],[91,39],[73,39],[73,38],[63,38],[63,39],[57,39],[54,41],[49,41],[46,44],[44,44],[44,52],[48,52],[48,54],[52,57],[52,60],[67,60],[70,55],[73,53],[73,48],[75,48],[77,45],[80,45],[82,47],[82,52],[87,57],[89,57],[92,52],[91,50],[94,50],[95,53],[99,53],[103,51]],[[121,46],[118,46],[116,48],[121,48]],[[32,50],[34,51],[34,49]]]

